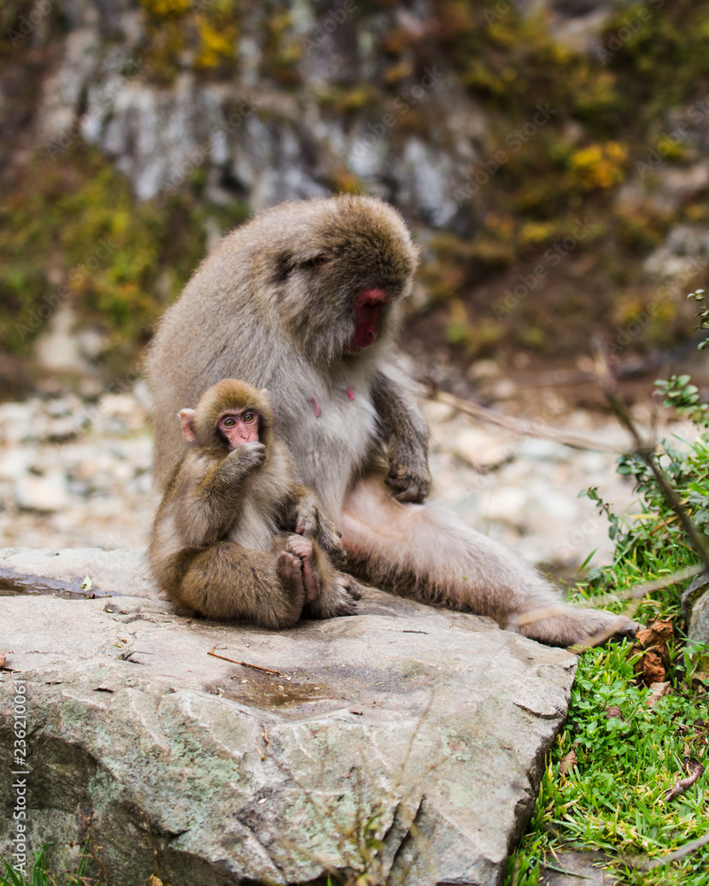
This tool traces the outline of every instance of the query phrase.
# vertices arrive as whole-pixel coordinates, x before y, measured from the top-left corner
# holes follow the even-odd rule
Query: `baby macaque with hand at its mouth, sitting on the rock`
[[[293,481],[268,393],[224,379],[179,417],[187,449],[148,549],[160,588],[212,618],[273,628],[294,625],[304,607],[316,618],[353,614],[359,586],[331,563],[344,551],[315,495]]]

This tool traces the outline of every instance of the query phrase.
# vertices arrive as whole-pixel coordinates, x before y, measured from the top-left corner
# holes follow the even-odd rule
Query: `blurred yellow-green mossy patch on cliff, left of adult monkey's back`
[[[199,175],[195,176],[199,180]],[[141,203],[98,152],[75,144],[59,166],[39,154],[4,195],[0,343],[25,354],[62,304],[105,332],[105,369],[122,372],[205,252],[205,221],[245,217],[206,205],[199,186]]]

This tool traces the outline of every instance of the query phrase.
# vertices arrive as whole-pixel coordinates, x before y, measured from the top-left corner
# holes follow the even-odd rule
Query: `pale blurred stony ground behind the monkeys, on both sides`
[[[0,404],[0,547],[145,547],[157,505],[152,439],[142,384],[98,400],[69,393]],[[598,548],[607,525],[579,491],[598,486],[623,513],[633,501],[615,456],[585,452],[482,424],[434,401],[434,496],[534,563],[573,570]],[[610,418],[582,410],[559,424],[620,445]]]

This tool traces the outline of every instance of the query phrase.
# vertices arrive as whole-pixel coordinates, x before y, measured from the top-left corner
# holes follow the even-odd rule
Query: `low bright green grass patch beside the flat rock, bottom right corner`
[[[623,882],[705,886],[707,846],[651,873],[627,867],[657,859],[709,831],[701,779],[682,797],[668,804],[662,799],[686,774],[685,742],[692,756],[704,756],[706,725],[695,724],[706,720],[706,702],[694,695],[684,680],[687,671],[678,667],[676,694],[651,708],[649,690],[635,685],[628,651],[623,642],[582,657],[569,719],[543,775],[528,833],[510,859],[508,883],[532,886],[539,881],[542,863],[554,864],[554,851],[583,849],[618,859]],[[624,719],[606,719],[612,706],[620,708]],[[577,766],[561,775],[561,762],[572,749]]]

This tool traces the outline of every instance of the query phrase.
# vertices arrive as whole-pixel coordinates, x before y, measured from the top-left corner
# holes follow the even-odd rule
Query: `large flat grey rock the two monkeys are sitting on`
[[[59,867],[89,833],[112,886],[146,882],[153,848],[172,886],[502,882],[565,718],[565,650],[369,589],[356,617],[283,633],[184,618],[125,551],[0,566],[5,587],[16,567],[115,594],[0,597],[0,753],[21,677],[30,847],[53,841]],[[7,857],[8,779],[0,801]]]

